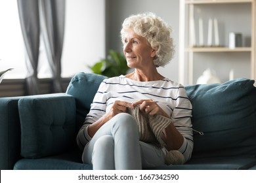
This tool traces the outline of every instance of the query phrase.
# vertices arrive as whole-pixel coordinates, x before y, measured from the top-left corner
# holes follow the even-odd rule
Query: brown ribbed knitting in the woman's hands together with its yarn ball
[[[161,115],[147,115],[141,112],[139,107],[127,108],[127,113],[131,114],[137,121],[140,141],[158,144],[160,148],[166,146],[161,139],[161,133],[171,123],[171,119]],[[170,150],[165,156],[165,163],[167,165],[181,165],[185,163],[185,159],[179,150]]]

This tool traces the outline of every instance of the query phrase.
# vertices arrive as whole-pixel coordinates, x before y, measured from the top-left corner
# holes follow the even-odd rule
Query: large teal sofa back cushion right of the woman
[[[256,88],[238,78],[223,84],[186,86],[192,103],[192,158],[256,155]]]

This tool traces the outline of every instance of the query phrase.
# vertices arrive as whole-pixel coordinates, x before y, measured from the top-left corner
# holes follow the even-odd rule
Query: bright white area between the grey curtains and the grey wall
[[[66,25],[62,52],[62,76],[91,73],[105,56],[105,0],[66,0]]]

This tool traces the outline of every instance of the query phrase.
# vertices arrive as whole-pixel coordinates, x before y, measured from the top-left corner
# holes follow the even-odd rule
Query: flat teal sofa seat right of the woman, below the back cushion
[[[185,165],[165,165],[154,169],[163,170],[247,170],[256,165],[256,158],[216,157],[195,158]]]

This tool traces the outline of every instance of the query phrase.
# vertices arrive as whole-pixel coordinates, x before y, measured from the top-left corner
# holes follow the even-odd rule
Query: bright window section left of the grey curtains
[[[25,78],[24,43],[16,1],[0,1],[0,70],[14,68],[5,78]]]

